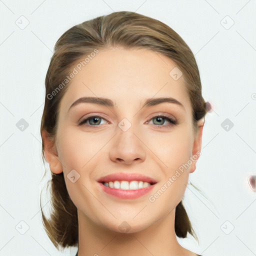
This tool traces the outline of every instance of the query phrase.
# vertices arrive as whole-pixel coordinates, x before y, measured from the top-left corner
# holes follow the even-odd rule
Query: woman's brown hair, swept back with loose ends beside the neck
[[[196,127],[197,120],[204,117],[207,110],[201,95],[199,70],[190,48],[173,29],[161,21],[136,12],[118,11],[71,27],[55,43],[45,77],[41,136],[42,131],[46,130],[52,141],[55,141],[59,102],[67,86],[61,86],[61,90],[54,93],[54,97],[49,97],[52,91],[59,88],[59,84],[73,69],[75,61],[93,52],[95,48],[108,47],[145,48],[172,59],[184,74],[193,110],[193,124]],[[43,141],[41,153],[42,158],[45,159]],[[57,249],[59,246],[63,248],[76,246],[78,245],[77,208],[68,195],[63,172],[59,174],[51,172],[51,177],[47,183],[48,185],[50,182],[51,185],[52,211],[49,219],[46,219],[41,208],[44,228]],[[182,200],[175,210],[175,233],[183,238],[190,233],[197,239]]]

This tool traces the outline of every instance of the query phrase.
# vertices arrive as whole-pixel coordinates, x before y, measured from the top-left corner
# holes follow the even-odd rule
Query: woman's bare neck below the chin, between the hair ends
[[[77,215],[78,256],[195,255],[189,254],[177,242],[174,231],[175,209],[152,225],[133,233],[112,231],[92,222],[79,210]]]

